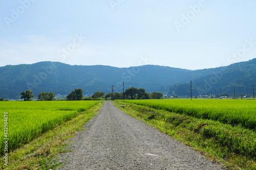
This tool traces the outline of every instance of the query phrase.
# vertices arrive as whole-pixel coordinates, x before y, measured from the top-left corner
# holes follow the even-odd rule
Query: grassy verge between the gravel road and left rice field
[[[66,148],[71,138],[83,129],[83,125],[93,118],[103,103],[98,103],[85,112],[79,112],[74,118],[47,131],[19,149],[8,153],[8,166],[4,165],[3,156],[0,158],[1,169],[56,169],[61,167],[57,155],[67,152]]]

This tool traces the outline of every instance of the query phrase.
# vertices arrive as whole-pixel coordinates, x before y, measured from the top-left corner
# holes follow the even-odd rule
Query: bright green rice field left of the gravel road
[[[17,149],[98,103],[98,101],[1,102],[0,153],[4,152],[4,138],[8,138],[8,151]],[[4,115],[8,116],[7,121],[4,121]],[[5,122],[8,123],[6,126],[8,129],[4,129]],[[7,130],[5,131],[7,136],[4,130]]]

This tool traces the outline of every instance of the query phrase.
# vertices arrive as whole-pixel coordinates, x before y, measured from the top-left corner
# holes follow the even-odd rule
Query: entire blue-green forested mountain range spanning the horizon
[[[118,68],[104,65],[69,65],[60,62],[7,65],[0,67],[0,98],[19,99],[20,93],[30,89],[35,98],[42,91],[67,95],[75,88],[83,94],[95,91],[122,92],[130,87],[144,88],[147,92],[159,91],[167,95],[206,94],[221,89],[233,93],[252,93],[256,83],[256,59],[234,63],[229,66],[188,70],[159,65],[143,65]],[[212,93],[214,93],[212,92]]]

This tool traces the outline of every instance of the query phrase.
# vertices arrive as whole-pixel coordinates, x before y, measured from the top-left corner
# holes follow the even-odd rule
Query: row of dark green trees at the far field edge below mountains
[[[161,92],[153,92],[148,93],[143,88],[135,88],[131,87],[125,90],[124,93],[113,92],[113,93],[104,93],[100,91],[96,91],[92,96],[83,98],[83,90],[78,88],[72,90],[65,98],[67,101],[79,101],[79,100],[133,100],[133,99],[161,99],[163,97],[163,93]],[[34,99],[33,92],[31,90],[23,91],[20,93],[22,96],[20,99],[24,99],[24,101],[31,101]],[[55,94],[53,92],[41,92],[37,98],[39,101],[52,101],[55,100]]]

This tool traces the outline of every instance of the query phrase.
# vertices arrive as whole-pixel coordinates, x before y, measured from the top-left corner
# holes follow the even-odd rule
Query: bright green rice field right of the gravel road
[[[217,120],[248,129],[256,126],[256,100],[125,100],[124,102],[186,114],[197,118]]]

